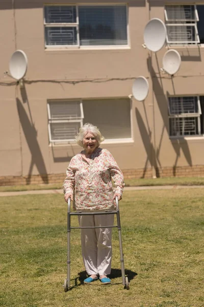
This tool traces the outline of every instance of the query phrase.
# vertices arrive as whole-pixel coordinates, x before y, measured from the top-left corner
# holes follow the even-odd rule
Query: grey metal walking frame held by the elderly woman
[[[129,280],[127,276],[125,276],[124,270],[124,259],[123,259],[123,251],[122,251],[122,235],[121,235],[121,225],[120,225],[120,211],[119,211],[119,202],[118,196],[115,198],[116,210],[107,210],[103,212],[71,212],[71,199],[68,198],[68,209],[67,209],[67,278],[64,280],[64,291],[67,292],[70,290],[70,237],[71,237],[71,229],[82,229],[82,228],[118,228],[118,237],[119,237],[119,249],[120,249],[120,263],[121,263],[121,275],[122,275],[122,284],[124,289],[129,290]],[[104,214],[116,214],[117,217],[117,225],[111,226],[93,226],[93,227],[71,227],[71,216],[72,215],[104,215]]]

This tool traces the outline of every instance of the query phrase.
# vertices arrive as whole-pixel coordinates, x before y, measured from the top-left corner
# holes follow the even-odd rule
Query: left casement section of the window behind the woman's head
[[[83,125],[82,101],[49,101],[47,112],[49,141],[74,141],[75,135]]]

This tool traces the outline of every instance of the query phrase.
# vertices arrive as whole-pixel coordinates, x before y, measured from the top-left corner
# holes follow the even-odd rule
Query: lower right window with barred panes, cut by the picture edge
[[[203,135],[204,96],[169,97],[171,137]]]

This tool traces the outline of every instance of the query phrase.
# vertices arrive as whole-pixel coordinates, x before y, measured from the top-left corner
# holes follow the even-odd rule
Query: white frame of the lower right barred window
[[[169,99],[173,98],[173,97],[178,97],[183,99],[184,97],[196,97],[197,98],[197,113],[180,113],[180,114],[171,114],[170,112],[170,106],[169,106]],[[204,135],[201,134],[201,123],[200,123],[200,116],[202,115],[201,112],[201,106],[200,106],[200,96],[199,95],[182,95],[182,96],[168,96],[168,119],[169,119],[169,138],[170,139],[179,139],[179,138],[200,138],[203,137]],[[197,118],[197,130],[198,130],[198,134],[197,135],[177,135],[177,136],[173,136],[170,135],[171,131],[170,131],[170,119],[177,119],[177,118]]]

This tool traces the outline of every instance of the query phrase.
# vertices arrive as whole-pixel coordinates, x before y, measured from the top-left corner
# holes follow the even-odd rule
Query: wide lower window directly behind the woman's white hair
[[[130,99],[48,101],[50,142],[74,141],[84,123],[99,127],[106,141],[132,141]]]

